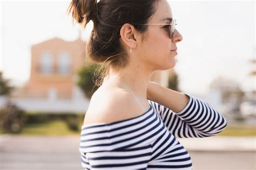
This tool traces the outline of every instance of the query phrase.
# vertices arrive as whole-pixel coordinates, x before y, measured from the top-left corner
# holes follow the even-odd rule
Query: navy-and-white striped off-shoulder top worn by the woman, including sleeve
[[[149,110],[138,117],[83,125],[80,135],[85,169],[192,169],[190,154],[177,138],[217,135],[227,125],[208,103],[190,96],[179,113],[147,100]]]

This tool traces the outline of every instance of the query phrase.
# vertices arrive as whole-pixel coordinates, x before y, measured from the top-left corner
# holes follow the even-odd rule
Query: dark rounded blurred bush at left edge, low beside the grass
[[[0,110],[0,129],[3,132],[19,133],[26,122],[25,112],[8,102]]]

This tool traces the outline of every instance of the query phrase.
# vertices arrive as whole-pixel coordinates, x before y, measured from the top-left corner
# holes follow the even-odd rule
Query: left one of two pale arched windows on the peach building
[[[43,52],[40,59],[40,72],[51,74],[53,70],[53,58],[50,52]]]

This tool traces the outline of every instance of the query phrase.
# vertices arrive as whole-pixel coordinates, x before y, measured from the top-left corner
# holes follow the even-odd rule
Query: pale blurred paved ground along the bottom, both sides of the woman
[[[179,140],[190,153],[194,170],[256,169],[255,138],[210,137],[201,140],[196,138]],[[235,142],[242,142],[241,147],[238,148],[239,145],[235,145]],[[230,143],[227,149],[223,147],[226,143]],[[0,136],[0,169],[83,170],[80,166],[78,147],[78,136]]]

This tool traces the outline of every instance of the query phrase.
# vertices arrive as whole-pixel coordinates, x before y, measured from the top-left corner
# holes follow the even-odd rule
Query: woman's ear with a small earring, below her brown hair
[[[120,29],[120,36],[124,42],[124,45],[127,45],[129,48],[132,45],[132,48],[137,46],[139,33],[136,31],[133,25],[124,24]]]

